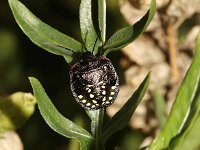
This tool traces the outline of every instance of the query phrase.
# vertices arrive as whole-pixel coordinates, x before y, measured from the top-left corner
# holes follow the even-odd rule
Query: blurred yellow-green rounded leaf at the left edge
[[[21,128],[35,110],[30,93],[17,92],[0,99],[0,134]]]

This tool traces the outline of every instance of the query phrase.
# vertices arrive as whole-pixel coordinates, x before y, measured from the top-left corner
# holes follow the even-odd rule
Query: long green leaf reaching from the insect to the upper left
[[[83,51],[81,43],[43,23],[18,0],[8,2],[22,31],[39,47],[64,56],[68,63],[73,61],[74,52]]]

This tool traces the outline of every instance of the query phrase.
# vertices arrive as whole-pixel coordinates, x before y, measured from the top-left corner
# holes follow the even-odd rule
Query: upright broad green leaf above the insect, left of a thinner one
[[[94,54],[97,54],[98,47],[102,45],[95,28],[95,21],[93,21],[93,15],[95,15],[95,11],[97,11],[93,9],[96,2],[97,1],[93,0],[81,0],[79,12],[82,39],[86,49],[90,52],[94,50]]]

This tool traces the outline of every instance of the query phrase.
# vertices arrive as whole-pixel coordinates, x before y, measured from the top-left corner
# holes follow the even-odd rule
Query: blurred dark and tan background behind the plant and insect
[[[43,22],[82,42],[80,0],[21,2]],[[180,1],[177,4],[172,1],[168,5],[168,2],[158,2],[155,18],[143,36],[123,50],[108,55],[116,67],[121,85],[116,103],[107,110],[109,116],[125,103],[148,71],[152,70],[151,85],[144,101],[130,126],[110,138],[106,145],[108,149],[123,145],[127,150],[134,150],[144,141],[148,143],[152,139],[160,125],[156,119],[155,99],[159,96],[163,99],[163,112],[167,115],[177,87],[190,65],[195,38],[200,29],[200,3]],[[107,0],[107,38],[141,18],[149,3],[148,0]],[[187,9],[183,9],[185,7]],[[34,45],[17,25],[8,2],[0,0],[0,96],[17,91],[32,92],[28,77],[34,76],[64,116],[90,130],[89,118],[72,98],[69,69],[70,66],[61,56]],[[26,150],[75,150],[78,144],[51,130],[38,109],[17,132]]]

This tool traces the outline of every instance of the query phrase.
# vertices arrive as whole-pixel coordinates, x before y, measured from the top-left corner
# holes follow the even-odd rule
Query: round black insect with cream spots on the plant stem
[[[100,109],[115,101],[119,92],[119,79],[108,58],[84,52],[71,67],[70,87],[82,107]]]

